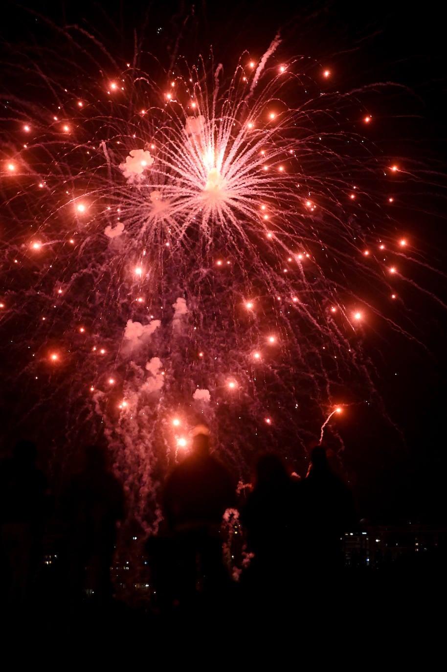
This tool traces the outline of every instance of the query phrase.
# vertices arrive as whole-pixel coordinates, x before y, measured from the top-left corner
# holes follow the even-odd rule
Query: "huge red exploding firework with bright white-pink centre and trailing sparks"
[[[299,465],[380,405],[364,338],[409,335],[418,263],[387,210],[401,168],[364,142],[360,93],[278,39],[227,77],[212,53],[143,70],[65,36],[74,56],[17,61],[33,88],[3,100],[6,376],[59,453],[104,432],[156,530],[196,423],[243,481],[267,445]]]

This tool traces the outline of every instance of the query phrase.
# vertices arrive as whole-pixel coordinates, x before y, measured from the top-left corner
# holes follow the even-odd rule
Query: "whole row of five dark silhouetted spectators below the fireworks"
[[[0,463],[3,614],[48,601],[48,591],[38,590],[48,519],[58,529],[57,613],[79,614],[95,602],[102,610],[96,613],[105,614],[117,601],[111,571],[126,519],[125,493],[108,449],[99,442],[85,446],[83,463],[57,496],[36,456],[36,444],[20,439]],[[184,622],[194,615],[197,623],[198,614],[206,620],[216,612],[239,613],[253,623],[303,603],[310,622],[321,618],[322,605],[325,617],[336,619],[348,587],[342,539],[360,523],[330,452],[317,445],[309,457],[300,478],[278,454],[259,454],[251,486],[241,489],[213,452],[208,429],[198,425],[189,452],[178,456],[165,479],[159,532],[145,542],[153,593],[145,614]],[[242,538],[246,561],[239,581],[228,548],[225,555],[226,511],[233,511]]]

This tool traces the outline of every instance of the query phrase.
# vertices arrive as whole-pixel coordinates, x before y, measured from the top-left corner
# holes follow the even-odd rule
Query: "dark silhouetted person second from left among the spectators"
[[[63,561],[74,599],[88,587],[107,601],[114,593],[110,577],[118,521],[124,518],[124,491],[108,466],[106,449],[87,446],[81,472],[73,476],[61,503],[65,521]]]

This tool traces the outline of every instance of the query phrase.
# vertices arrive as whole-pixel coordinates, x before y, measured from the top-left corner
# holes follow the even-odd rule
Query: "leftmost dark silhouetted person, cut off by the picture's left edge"
[[[20,439],[13,457],[0,466],[1,581],[10,606],[21,607],[32,597],[43,562],[49,493],[48,480],[36,465],[36,457],[36,444]]]

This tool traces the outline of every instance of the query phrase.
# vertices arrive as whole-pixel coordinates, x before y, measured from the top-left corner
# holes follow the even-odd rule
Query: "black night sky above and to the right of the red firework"
[[[261,54],[279,31],[285,54],[307,54],[327,64],[343,90],[377,81],[401,84],[399,95],[382,101],[374,97],[374,112],[380,119],[373,131],[374,139],[390,155],[399,156],[411,148],[426,166],[423,182],[415,185],[412,193],[409,190],[397,216],[405,220],[410,233],[425,247],[429,263],[445,271],[446,58],[438,3],[423,3],[417,12],[403,2],[357,6],[312,2],[300,3],[294,9],[289,5],[282,0],[213,1],[198,2],[192,10],[193,3],[188,2],[6,3],[6,9],[2,8],[0,40],[3,51],[7,42],[17,45],[34,37],[38,41],[41,14],[60,26],[75,23],[92,30],[123,59],[132,52],[137,28],[137,35],[145,35],[143,49],[166,54],[166,63],[179,54],[194,57],[212,45],[219,60],[232,71],[244,49]],[[407,103],[405,115],[402,110]],[[394,115],[399,118],[393,119]],[[446,300],[442,276],[434,278],[422,272],[416,280]],[[383,352],[387,364],[396,357],[390,366],[399,369],[399,386],[385,375],[380,391],[391,417],[403,427],[405,449],[396,449],[395,458],[390,458],[389,446],[381,446],[380,437],[374,437],[362,459],[371,461],[377,482],[387,493],[380,513],[415,513],[432,519],[445,513],[446,316],[445,311],[434,308],[423,297],[413,308],[418,337],[423,334],[427,353],[420,349],[415,353],[411,344],[396,352],[399,346],[393,343],[392,336],[387,343],[378,339],[374,344]],[[357,423],[361,422],[358,417]],[[347,432],[348,444],[355,443],[355,430],[354,423]],[[380,464],[382,455],[389,462],[385,470],[375,466]]]

